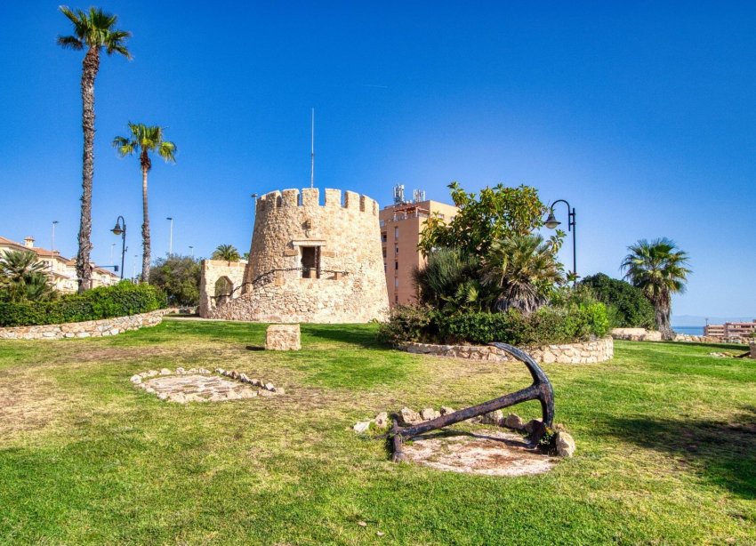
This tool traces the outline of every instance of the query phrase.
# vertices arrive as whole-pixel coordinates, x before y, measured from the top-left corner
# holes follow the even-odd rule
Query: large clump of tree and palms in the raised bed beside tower
[[[565,234],[533,233],[546,210],[536,190],[499,184],[476,196],[456,182],[449,188],[459,213],[448,224],[428,219],[418,245],[428,258],[415,275],[421,301],[445,313],[538,309],[564,282],[556,253]]]

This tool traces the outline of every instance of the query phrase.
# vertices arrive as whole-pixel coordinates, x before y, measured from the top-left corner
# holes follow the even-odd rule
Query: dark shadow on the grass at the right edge
[[[610,435],[672,454],[705,481],[756,499],[756,406],[729,421],[617,418]]]

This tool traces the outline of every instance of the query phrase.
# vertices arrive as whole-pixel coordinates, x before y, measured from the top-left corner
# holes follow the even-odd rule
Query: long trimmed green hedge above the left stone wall
[[[155,286],[123,281],[57,301],[0,303],[0,326],[54,325],[148,313],[165,307],[165,294]]]

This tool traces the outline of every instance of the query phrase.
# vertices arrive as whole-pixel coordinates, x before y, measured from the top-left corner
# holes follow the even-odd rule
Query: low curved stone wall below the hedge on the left
[[[103,318],[62,325],[14,326],[0,328],[0,340],[61,340],[64,338],[102,337],[159,325],[163,316],[175,309],[157,309],[129,317]]]

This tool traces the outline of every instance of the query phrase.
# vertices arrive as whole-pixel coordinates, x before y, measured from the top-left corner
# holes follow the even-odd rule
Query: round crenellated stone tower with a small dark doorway
[[[256,204],[250,259],[230,298],[205,316],[261,322],[363,323],[387,317],[378,204],[326,189],[285,189]],[[237,297],[236,297],[237,296]]]

